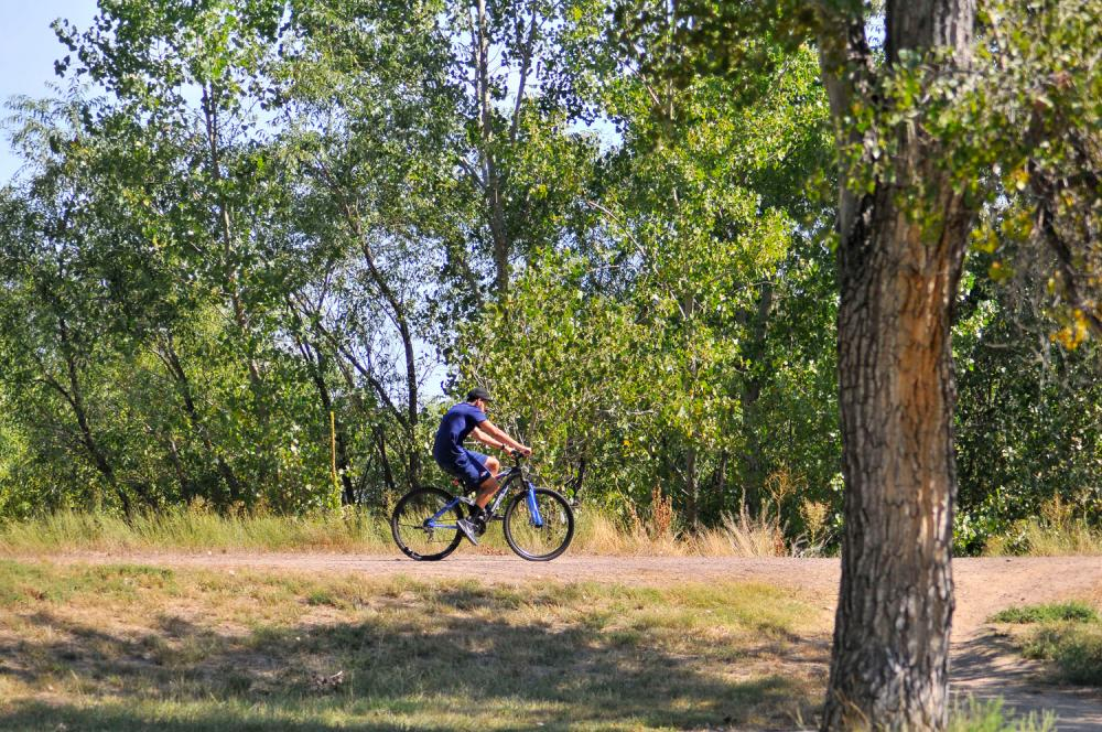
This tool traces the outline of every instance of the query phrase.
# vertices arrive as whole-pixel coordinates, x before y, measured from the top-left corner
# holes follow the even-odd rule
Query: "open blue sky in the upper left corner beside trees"
[[[96,0],[0,0],[0,118],[11,112],[8,100],[17,95],[47,96],[47,84],[56,82],[54,60],[63,55],[50,23],[67,18],[86,28],[96,13]],[[0,185],[19,168],[7,130],[0,142]]]

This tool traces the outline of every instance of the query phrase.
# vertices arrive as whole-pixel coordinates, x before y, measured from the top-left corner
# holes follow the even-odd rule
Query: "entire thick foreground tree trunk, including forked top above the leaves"
[[[965,63],[974,18],[973,0],[888,2],[888,68],[904,49],[949,47],[946,64]],[[850,19],[821,46],[842,120],[874,74],[863,26]],[[852,134],[840,125],[840,142]],[[937,141],[918,128],[899,131],[898,143],[896,183],[882,177],[871,194],[843,187],[840,197],[845,532],[823,730],[946,724],[957,493],[950,325],[972,212],[937,164]]]

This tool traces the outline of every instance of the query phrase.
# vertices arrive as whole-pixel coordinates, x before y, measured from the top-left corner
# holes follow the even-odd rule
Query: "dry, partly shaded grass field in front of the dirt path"
[[[829,624],[763,585],[0,561],[0,729],[791,729]]]

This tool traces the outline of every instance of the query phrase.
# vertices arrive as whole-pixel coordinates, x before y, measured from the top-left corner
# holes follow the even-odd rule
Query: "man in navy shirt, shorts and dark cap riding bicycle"
[[[486,505],[497,491],[497,473],[501,470],[501,463],[497,458],[467,450],[463,446],[463,441],[467,435],[473,435],[488,448],[511,449],[522,455],[532,454],[531,448],[520,444],[486,419],[489,402],[486,389],[471,389],[466,401],[461,401],[444,413],[432,445],[432,456],[441,470],[458,478],[467,491],[477,492],[475,505],[471,507],[471,517],[457,521],[463,536],[474,545],[478,543],[478,535],[486,530]]]

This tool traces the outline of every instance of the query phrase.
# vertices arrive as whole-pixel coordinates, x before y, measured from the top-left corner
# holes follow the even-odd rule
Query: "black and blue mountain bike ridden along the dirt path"
[[[550,488],[538,488],[525,472],[522,455],[511,453],[514,464],[498,475],[498,488],[486,506],[486,526],[501,521],[505,540],[519,557],[550,561],[566,551],[574,538],[571,502]],[[506,498],[512,495],[499,513]],[[574,488],[576,504],[577,487]],[[437,561],[455,551],[463,540],[456,521],[463,506],[473,506],[468,496],[455,496],[435,487],[414,488],[395,506],[390,531],[395,542],[410,559]]]

